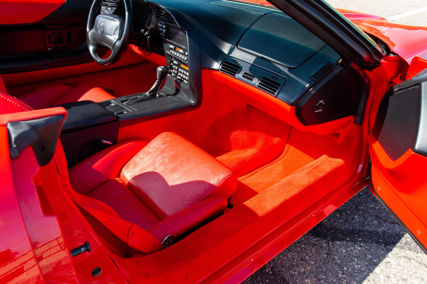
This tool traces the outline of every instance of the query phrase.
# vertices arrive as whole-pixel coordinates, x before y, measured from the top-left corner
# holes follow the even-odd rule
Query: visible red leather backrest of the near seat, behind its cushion
[[[32,108],[19,99],[0,92],[0,115],[29,110],[32,110]],[[105,203],[79,194],[71,188],[70,179],[68,177],[67,160],[65,159],[64,150],[59,140],[53,156],[53,161],[51,162],[55,163],[56,172],[50,174],[57,174],[59,176],[62,190],[74,203],[99,220],[100,223],[120,238],[120,240],[127,243],[130,247],[146,254],[156,252],[163,248],[160,241],[152,234],[133,223],[121,219],[119,215]],[[40,171],[51,172],[50,168],[47,166],[42,166]]]

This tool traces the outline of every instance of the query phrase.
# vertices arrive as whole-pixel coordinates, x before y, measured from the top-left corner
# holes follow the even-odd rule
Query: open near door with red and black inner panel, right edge
[[[427,253],[427,69],[384,96],[368,140],[377,197]]]

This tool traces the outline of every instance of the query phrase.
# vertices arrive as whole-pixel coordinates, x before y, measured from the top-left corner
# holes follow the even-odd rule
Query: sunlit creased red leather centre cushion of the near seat
[[[171,132],[149,142],[120,177],[161,219],[209,197],[228,198],[237,187],[230,169]]]

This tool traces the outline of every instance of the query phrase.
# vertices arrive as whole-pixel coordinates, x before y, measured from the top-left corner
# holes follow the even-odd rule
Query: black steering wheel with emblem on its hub
[[[115,14],[98,14],[102,0],[94,0],[89,12],[86,26],[88,49],[94,61],[100,65],[110,65],[117,62],[129,46],[132,29],[132,2],[123,0],[125,18]],[[111,50],[110,57],[102,59],[97,55],[97,49],[107,47]]]

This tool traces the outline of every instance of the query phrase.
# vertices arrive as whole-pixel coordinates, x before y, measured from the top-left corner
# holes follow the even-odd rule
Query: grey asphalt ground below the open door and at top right
[[[327,0],[427,26],[427,0]],[[369,190],[360,191],[243,283],[427,283],[427,255]]]

